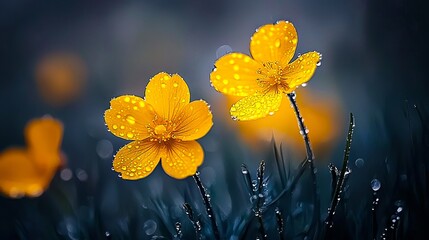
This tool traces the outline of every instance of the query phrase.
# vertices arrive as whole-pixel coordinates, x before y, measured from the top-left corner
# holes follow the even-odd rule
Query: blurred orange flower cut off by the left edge
[[[62,135],[62,124],[56,119],[30,121],[25,128],[27,147],[0,153],[0,191],[12,198],[40,196],[61,164]]]

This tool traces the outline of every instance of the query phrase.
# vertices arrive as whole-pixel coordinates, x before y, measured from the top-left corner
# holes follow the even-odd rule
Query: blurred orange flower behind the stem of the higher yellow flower
[[[228,96],[226,105],[231,106],[237,98]],[[321,154],[332,150],[334,141],[338,139],[342,129],[342,123],[338,121],[342,111],[339,101],[332,94],[329,99],[326,99],[318,97],[309,89],[302,89],[297,102],[306,126],[311,132],[310,140],[316,152]],[[277,143],[282,142],[291,149],[304,151],[302,136],[296,121],[287,121],[295,118],[295,113],[289,105],[287,99],[283,99],[281,108],[274,116],[254,121],[228,121],[228,123],[234,124],[234,127],[239,130],[239,136],[253,148],[265,146],[261,143],[269,143],[274,137]],[[229,115],[226,111],[224,114]]]

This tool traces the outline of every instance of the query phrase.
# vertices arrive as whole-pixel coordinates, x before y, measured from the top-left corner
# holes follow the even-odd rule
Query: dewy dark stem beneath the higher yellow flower
[[[307,152],[307,159],[305,161],[305,164],[310,164],[310,174],[311,174],[311,180],[313,182],[313,196],[314,196],[314,214],[313,214],[313,222],[312,226],[316,227],[319,224],[319,218],[320,218],[320,199],[319,199],[319,193],[317,191],[317,178],[316,178],[316,172],[314,167],[314,154],[313,149],[310,144],[310,138],[308,137],[308,129],[304,124],[304,119],[302,118],[302,115],[299,111],[298,105],[296,103],[296,94],[295,92],[287,94],[290,103],[292,104],[292,108],[295,112],[296,119],[298,120],[298,126],[300,133],[304,139],[305,143],[305,149]]]

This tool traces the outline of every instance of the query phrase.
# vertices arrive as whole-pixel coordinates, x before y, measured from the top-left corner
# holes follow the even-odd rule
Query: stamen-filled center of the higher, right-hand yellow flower
[[[287,92],[289,85],[286,82],[286,71],[278,62],[265,62],[263,67],[256,72],[258,85],[264,89],[264,92],[276,91]]]

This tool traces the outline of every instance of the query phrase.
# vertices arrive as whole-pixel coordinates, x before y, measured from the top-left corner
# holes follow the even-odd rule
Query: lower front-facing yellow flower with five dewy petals
[[[112,99],[104,119],[115,136],[134,140],[113,160],[113,169],[130,180],[148,176],[161,159],[162,168],[173,178],[194,175],[204,158],[195,140],[213,125],[207,103],[190,102],[186,82],[167,73],[149,81],[145,99],[132,95]]]

